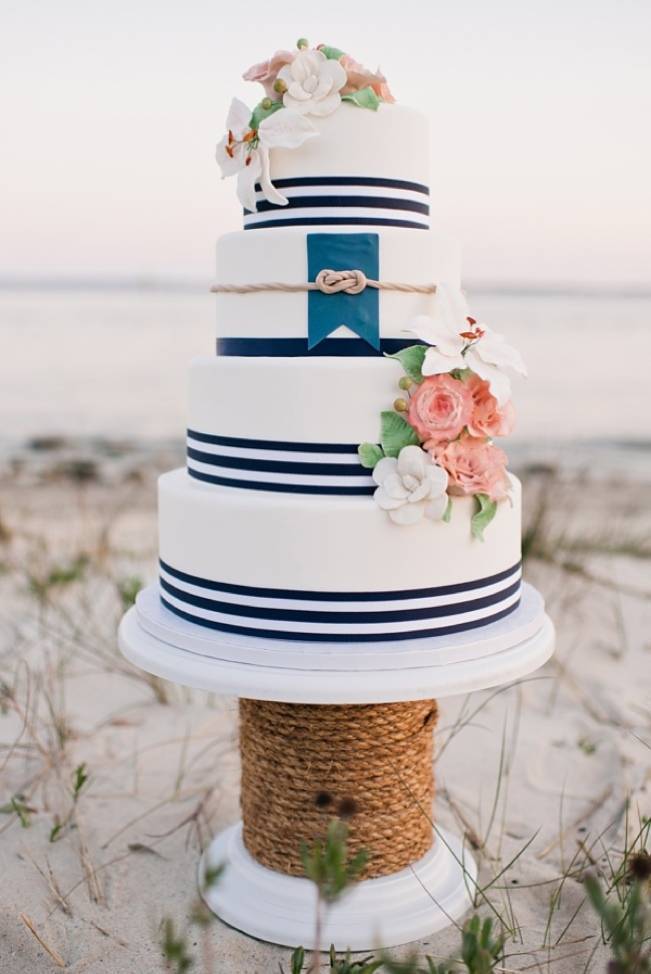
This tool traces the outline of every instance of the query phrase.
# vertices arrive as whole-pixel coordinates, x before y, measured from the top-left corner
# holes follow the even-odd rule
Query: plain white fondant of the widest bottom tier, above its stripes
[[[369,592],[486,578],[520,560],[520,484],[498,505],[483,542],[470,533],[472,498],[449,524],[398,527],[372,497],[313,497],[159,481],[160,556],[177,571],[243,585]]]

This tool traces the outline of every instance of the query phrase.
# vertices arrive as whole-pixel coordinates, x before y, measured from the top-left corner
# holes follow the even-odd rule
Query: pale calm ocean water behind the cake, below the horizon
[[[529,367],[512,449],[651,477],[651,295],[469,297]],[[213,341],[201,287],[0,290],[0,436],[180,438],[188,363]]]

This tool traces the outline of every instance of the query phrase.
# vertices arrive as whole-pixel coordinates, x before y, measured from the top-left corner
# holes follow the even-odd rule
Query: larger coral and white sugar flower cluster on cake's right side
[[[391,356],[405,375],[393,410],[382,413],[381,445],[363,443],[376,503],[397,524],[449,520],[452,499],[472,496],[481,538],[508,497],[507,457],[493,442],[513,431],[509,372],[525,375],[519,353],[468,314],[460,291],[440,285],[432,316],[409,329],[420,344]]]

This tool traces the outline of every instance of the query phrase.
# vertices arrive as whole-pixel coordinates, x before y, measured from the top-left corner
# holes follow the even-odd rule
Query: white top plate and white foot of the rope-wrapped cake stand
[[[525,584],[515,612],[474,631],[407,643],[315,646],[204,630],[165,609],[152,585],[125,615],[119,640],[136,666],[184,686],[254,700],[369,704],[440,698],[520,679],[551,656],[554,627],[541,596]],[[433,846],[422,859],[357,884],[328,910],[316,945],[316,888],[256,862],[242,842],[241,824],[213,840],[200,875],[218,864],[226,865],[223,877],[204,898],[226,923],[289,947],[334,943],[352,950],[394,947],[442,929],[468,909],[477,875],[460,840],[435,826]]]

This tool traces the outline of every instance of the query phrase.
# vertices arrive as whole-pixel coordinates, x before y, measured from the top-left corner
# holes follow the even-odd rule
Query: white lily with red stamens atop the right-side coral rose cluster
[[[486,325],[468,315],[462,292],[439,284],[434,298],[434,313],[418,315],[409,329],[428,348],[423,375],[439,375],[452,369],[472,369],[485,379],[500,405],[511,396],[511,383],[505,371],[526,375],[520,353]]]

